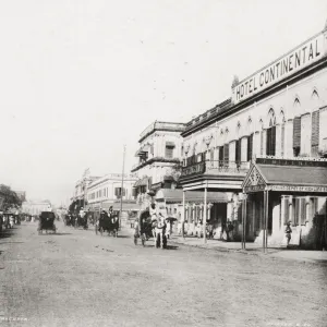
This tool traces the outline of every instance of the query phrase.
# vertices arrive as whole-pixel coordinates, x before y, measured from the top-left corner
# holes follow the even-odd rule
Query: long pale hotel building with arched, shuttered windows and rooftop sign
[[[326,26],[327,27],[327,26]],[[223,192],[226,204],[185,209],[263,244],[314,246],[326,225],[327,28],[232,85],[231,98],[182,132],[183,191]],[[245,226],[245,228],[243,228]]]

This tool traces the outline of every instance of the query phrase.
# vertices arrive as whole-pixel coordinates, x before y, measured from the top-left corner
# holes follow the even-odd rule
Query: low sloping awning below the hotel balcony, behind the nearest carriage
[[[183,202],[183,190],[171,190],[161,189],[157,192],[156,201],[166,203],[182,203]],[[186,203],[203,203],[204,191],[186,191],[185,192]],[[223,192],[207,192],[208,203],[228,203],[228,197]]]

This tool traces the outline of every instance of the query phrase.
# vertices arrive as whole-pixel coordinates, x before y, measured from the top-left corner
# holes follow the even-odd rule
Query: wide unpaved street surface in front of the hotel
[[[57,227],[1,234],[0,326],[326,326],[323,263]]]

